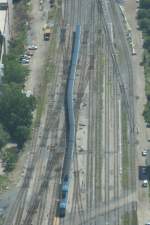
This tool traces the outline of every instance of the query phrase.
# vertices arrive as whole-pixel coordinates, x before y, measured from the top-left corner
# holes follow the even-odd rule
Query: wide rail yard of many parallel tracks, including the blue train
[[[42,58],[41,48],[54,69],[4,225],[142,225],[137,215],[136,56],[119,5],[115,0],[31,2],[38,10],[32,25],[41,21],[31,32],[38,46],[33,64]],[[51,21],[48,14],[56,9],[57,21]],[[43,40],[46,23],[53,24],[53,32],[44,31]],[[40,64],[35,68],[36,73]]]

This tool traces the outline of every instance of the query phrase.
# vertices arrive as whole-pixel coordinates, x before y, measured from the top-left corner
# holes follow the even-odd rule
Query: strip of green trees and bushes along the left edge
[[[4,76],[0,85],[0,157],[6,172],[15,167],[18,152],[30,137],[35,98],[24,91],[29,69],[19,60],[27,42],[29,1],[14,4],[14,27],[8,54],[3,56]],[[8,142],[16,147],[3,148]],[[1,182],[0,182],[1,183]]]

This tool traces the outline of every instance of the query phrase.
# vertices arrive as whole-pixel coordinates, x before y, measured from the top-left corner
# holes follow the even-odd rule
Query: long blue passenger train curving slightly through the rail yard
[[[73,38],[72,57],[70,63],[70,70],[68,73],[67,93],[66,93],[67,147],[63,162],[62,181],[60,190],[60,202],[59,202],[60,217],[64,217],[66,212],[71,160],[75,145],[75,118],[74,118],[73,91],[76,75],[76,66],[78,63],[78,56],[80,50],[80,33],[81,33],[80,25],[77,25]]]

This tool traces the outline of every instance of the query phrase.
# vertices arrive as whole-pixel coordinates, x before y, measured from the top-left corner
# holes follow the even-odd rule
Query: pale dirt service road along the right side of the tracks
[[[145,157],[142,157],[141,152],[144,149],[150,148],[150,143],[147,141],[150,137],[150,129],[146,128],[144,118],[142,116],[145,97],[145,80],[144,68],[140,66],[142,61],[142,33],[137,30],[137,6],[135,0],[128,0],[124,3],[128,22],[132,28],[133,41],[137,55],[132,56],[133,73],[134,73],[134,99],[135,99],[135,129],[137,131],[137,191],[138,191],[138,222],[143,225],[150,221],[150,201],[149,189],[142,187],[142,182],[138,179],[138,167],[145,165]]]

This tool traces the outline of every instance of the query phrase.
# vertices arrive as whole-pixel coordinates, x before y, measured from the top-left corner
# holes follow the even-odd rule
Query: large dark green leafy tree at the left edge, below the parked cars
[[[3,124],[13,141],[19,146],[28,138],[27,131],[32,123],[32,111],[35,98],[27,97],[21,87],[11,83],[1,87],[0,122]],[[22,129],[22,130],[21,130]],[[19,137],[23,134],[23,137]]]

